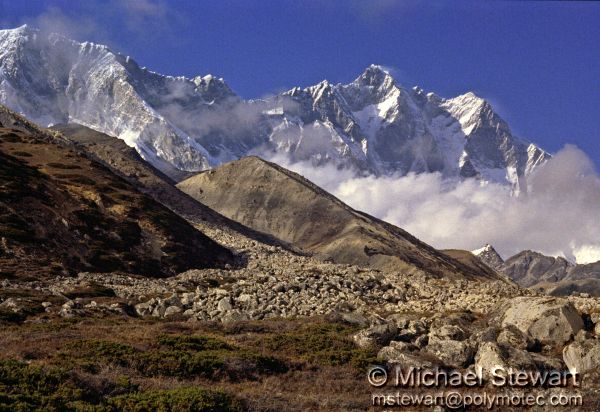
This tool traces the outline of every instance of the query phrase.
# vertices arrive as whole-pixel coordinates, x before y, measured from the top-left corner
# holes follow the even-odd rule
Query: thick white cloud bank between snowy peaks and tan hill
[[[448,181],[436,173],[355,177],[335,167],[272,160],[440,249],[491,243],[504,258],[531,249],[578,263],[600,260],[600,177],[575,146],[539,168],[521,197],[498,184]]]

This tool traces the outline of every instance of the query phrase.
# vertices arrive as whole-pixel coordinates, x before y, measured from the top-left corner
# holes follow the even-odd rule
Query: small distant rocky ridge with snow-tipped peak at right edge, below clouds
[[[600,296],[600,262],[574,264],[562,257],[524,250],[502,260],[491,245],[472,252],[488,266],[521,286],[555,296],[588,293]]]

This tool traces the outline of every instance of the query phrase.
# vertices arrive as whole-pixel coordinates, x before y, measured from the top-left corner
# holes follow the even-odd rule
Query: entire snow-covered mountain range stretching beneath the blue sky
[[[549,155],[513,136],[473,93],[405,89],[379,66],[245,101],[222,79],[169,77],[129,57],[27,26],[0,31],[0,103],[42,125],[117,136],[156,167],[203,170],[247,154],[332,162],[377,175],[440,172],[524,190]]]

